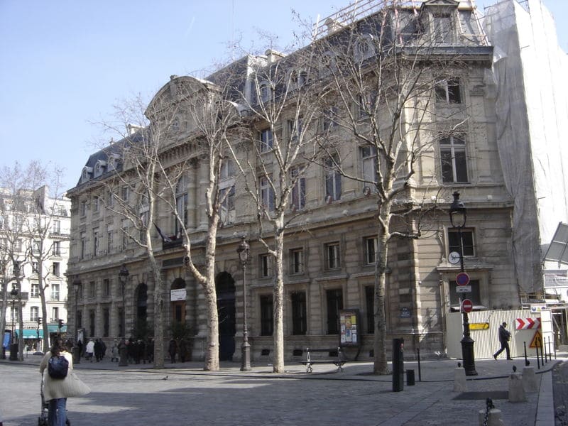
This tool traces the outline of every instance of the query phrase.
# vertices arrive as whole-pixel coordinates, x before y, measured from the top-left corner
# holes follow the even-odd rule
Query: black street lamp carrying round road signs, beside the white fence
[[[454,192],[454,201],[449,206],[449,222],[452,227],[457,228],[459,239],[459,268],[464,272],[464,240],[461,238],[461,229],[466,226],[466,207],[464,202],[459,201],[459,192]],[[459,302],[459,310],[464,318],[464,337],[461,339],[461,358],[464,360],[464,370],[466,376],[477,376],[475,370],[475,356],[474,356],[474,339],[471,339],[469,333],[469,317],[467,312],[461,306],[461,297]]]

